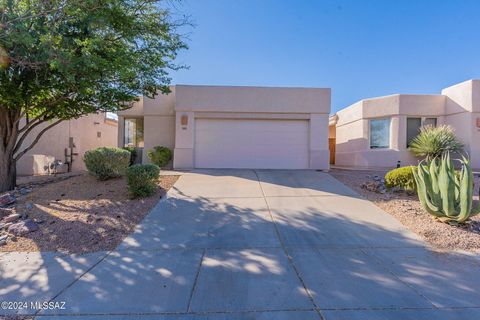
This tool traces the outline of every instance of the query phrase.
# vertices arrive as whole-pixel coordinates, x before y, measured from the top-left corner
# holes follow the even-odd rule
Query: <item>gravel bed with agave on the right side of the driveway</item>
[[[466,225],[452,226],[434,220],[422,208],[416,194],[365,188],[379,182],[386,172],[332,169],[330,174],[394,216],[433,247],[480,252],[480,215],[474,216]],[[476,176],[475,195],[478,195],[479,184],[480,179]],[[474,199],[478,200],[478,196]]]

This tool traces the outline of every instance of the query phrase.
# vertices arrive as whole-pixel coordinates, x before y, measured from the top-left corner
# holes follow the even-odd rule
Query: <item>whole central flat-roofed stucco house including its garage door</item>
[[[119,146],[173,167],[328,169],[330,89],[177,85],[119,112]]]

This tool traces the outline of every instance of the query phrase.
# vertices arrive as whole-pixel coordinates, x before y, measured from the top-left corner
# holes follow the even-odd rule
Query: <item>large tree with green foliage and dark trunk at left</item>
[[[161,0],[0,0],[0,192],[61,121],[168,93],[186,25]]]

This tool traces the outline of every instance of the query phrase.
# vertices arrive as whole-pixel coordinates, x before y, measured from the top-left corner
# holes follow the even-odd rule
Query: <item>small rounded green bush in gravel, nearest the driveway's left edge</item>
[[[160,168],[154,164],[135,164],[127,169],[128,191],[133,198],[148,197],[157,190]]]

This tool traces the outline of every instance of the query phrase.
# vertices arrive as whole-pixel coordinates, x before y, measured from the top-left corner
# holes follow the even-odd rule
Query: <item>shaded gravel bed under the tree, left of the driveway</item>
[[[160,176],[156,193],[143,199],[129,198],[125,178],[98,181],[85,173],[26,182],[16,190],[14,206],[0,209],[0,238],[8,237],[0,252],[112,250],[177,179],[175,175]],[[21,236],[7,232],[12,222],[6,223],[5,217],[15,218],[14,214],[20,217],[13,223],[27,221],[27,229],[35,231]]]

